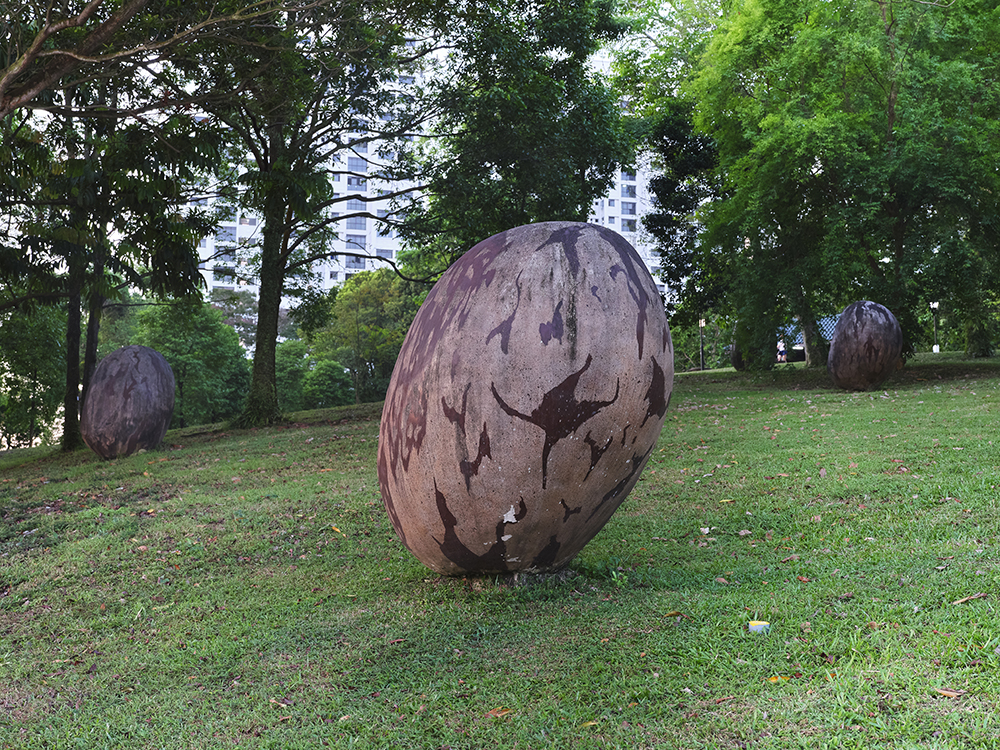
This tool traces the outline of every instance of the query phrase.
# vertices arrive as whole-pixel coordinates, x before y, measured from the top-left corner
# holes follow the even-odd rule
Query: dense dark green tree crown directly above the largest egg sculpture
[[[619,31],[608,3],[477,6],[451,31],[442,135],[416,159],[427,200],[401,236],[410,272],[434,276],[474,244],[538,221],[584,221],[633,158],[618,99],[588,66]]]

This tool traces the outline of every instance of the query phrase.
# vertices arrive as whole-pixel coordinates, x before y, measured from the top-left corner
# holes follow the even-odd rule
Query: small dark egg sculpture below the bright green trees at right
[[[834,326],[826,368],[838,388],[866,391],[899,367],[903,332],[896,316],[877,302],[844,308]]]

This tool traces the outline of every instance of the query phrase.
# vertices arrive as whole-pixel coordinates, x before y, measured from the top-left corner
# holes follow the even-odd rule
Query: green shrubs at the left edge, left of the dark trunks
[[[0,314],[0,441],[7,447],[50,442],[62,403],[66,315],[40,307]]]

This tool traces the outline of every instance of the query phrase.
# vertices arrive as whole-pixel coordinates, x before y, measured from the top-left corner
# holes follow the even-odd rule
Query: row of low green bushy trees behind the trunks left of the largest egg
[[[275,352],[283,413],[384,397],[396,355],[416,314],[419,292],[387,270],[363,272],[334,295],[325,322],[284,327]],[[251,364],[232,324],[245,301],[220,297],[156,303],[142,298],[108,302],[98,357],[122,346],[156,349],[175,379],[171,427],[232,420],[245,406]],[[51,440],[62,408],[65,312],[40,307],[0,326],[0,446]],[[314,321],[315,322],[315,321]],[[249,329],[244,329],[249,332]],[[302,334],[302,338],[299,334]],[[343,364],[341,364],[343,363]]]

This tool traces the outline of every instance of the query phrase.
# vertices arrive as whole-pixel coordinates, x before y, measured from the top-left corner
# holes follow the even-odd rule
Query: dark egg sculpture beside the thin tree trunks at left
[[[101,458],[155,448],[174,414],[174,373],[147,346],[126,346],[94,370],[80,414],[83,440]]]

